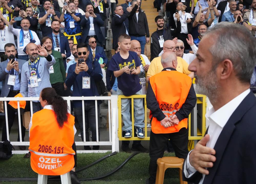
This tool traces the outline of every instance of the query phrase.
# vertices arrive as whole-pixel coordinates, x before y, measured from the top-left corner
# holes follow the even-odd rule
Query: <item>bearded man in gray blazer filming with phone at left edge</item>
[[[16,59],[16,50],[15,45],[12,43],[5,44],[4,46],[5,55],[7,56],[7,60],[0,63],[0,81],[3,81],[2,93],[1,97],[14,97],[19,93],[20,90],[20,81],[21,81],[21,69],[22,65],[26,62],[24,60]],[[10,57],[15,58],[11,59]],[[8,101],[7,101],[8,104]],[[14,122],[15,111],[12,109],[10,105],[7,105],[7,115],[8,115],[8,129],[9,134]],[[22,125],[22,118],[21,118]],[[25,137],[25,127],[21,126],[21,134],[22,141],[24,141]],[[6,134],[6,124],[4,123],[3,133],[2,133],[2,141],[7,140]],[[19,134],[18,134],[19,141]],[[19,146],[21,150],[25,150],[26,146]]]

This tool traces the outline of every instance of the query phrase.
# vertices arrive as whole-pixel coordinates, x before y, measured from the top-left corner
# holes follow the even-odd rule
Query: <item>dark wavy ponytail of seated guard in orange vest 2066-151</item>
[[[57,95],[54,88],[44,88],[41,92],[42,100],[46,100],[48,105],[52,105],[57,123],[60,128],[68,120],[68,107],[66,101]]]

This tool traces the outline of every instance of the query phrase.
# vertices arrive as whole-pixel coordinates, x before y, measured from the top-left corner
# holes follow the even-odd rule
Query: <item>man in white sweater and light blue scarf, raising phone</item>
[[[14,17],[15,18],[15,17]],[[30,27],[30,22],[27,18],[24,18],[21,20],[21,27],[22,29],[15,29],[13,28],[13,23],[16,21],[12,18],[10,21],[10,24],[8,26],[8,29],[11,33],[17,36],[17,51],[18,51],[18,59],[22,60],[28,60],[28,55],[25,52],[26,45],[28,43],[35,43],[35,44],[40,44],[40,40],[35,33],[35,31],[32,31],[29,29]]]

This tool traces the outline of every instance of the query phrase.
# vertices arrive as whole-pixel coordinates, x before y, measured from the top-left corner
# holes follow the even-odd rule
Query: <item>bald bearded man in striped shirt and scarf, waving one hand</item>
[[[29,43],[26,46],[26,53],[29,56],[29,60],[22,67],[20,92],[28,91],[28,97],[39,97],[42,89],[52,87],[49,68],[56,61],[44,47],[44,45],[37,46],[34,43]],[[39,101],[33,101],[32,106],[33,113],[43,109]]]

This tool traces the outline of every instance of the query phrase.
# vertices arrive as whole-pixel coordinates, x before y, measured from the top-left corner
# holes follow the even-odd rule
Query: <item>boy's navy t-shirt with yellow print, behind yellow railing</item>
[[[120,52],[112,56],[109,61],[108,69],[111,71],[118,71],[125,66],[129,66],[134,63],[135,68],[141,65],[140,59],[136,52],[129,51],[129,57],[123,59],[120,56]],[[134,95],[141,90],[140,79],[138,75],[123,73],[117,78],[117,86],[124,93],[125,96]]]

